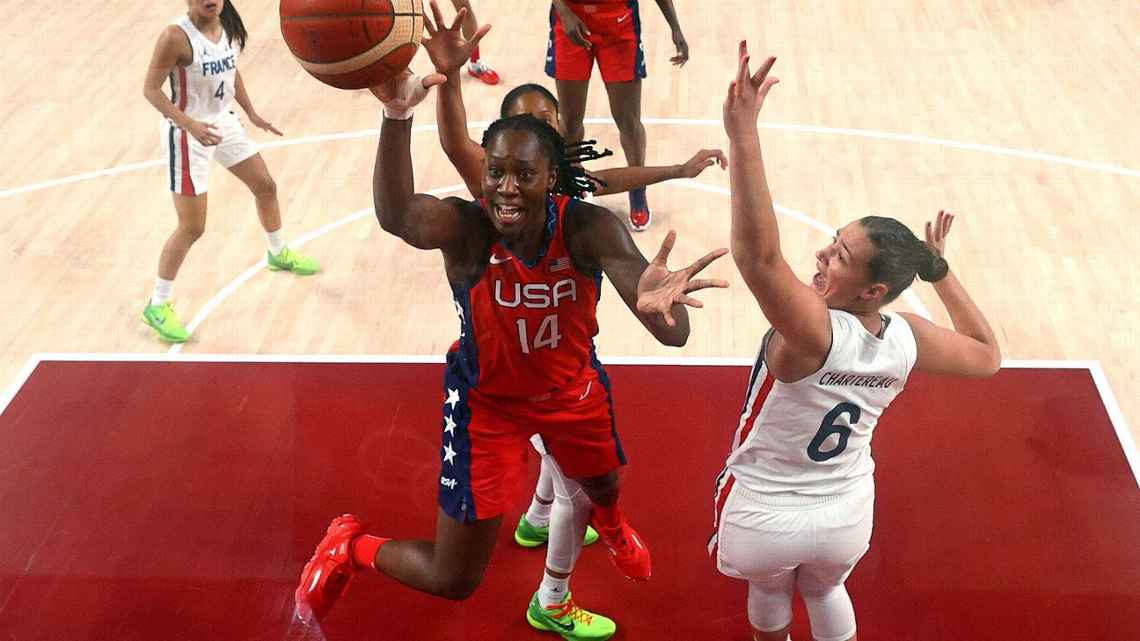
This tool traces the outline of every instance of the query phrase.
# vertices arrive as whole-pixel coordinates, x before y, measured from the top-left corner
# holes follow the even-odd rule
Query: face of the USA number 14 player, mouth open
[[[543,225],[546,195],[555,173],[538,137],[530,131],[498,132],[487,146],[483,197],[491,224],[504,236]]]

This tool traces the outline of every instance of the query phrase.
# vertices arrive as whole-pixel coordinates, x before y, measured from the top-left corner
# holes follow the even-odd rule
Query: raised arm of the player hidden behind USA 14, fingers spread
[[[433,18],[424,18],[429,36],[423,44],[435,72],[447,76],[447,82],[439,87],[435,96],[439,143],[471,195],[478,198],[482,196],[483,148],[467,133],[467,109],[463,105],[459,72],[471,57],[471,51],[490,31],[490,25],[480,26],[471,40],[467,40],[461,30],[466,7],[459,9],[451,26],[446,26],[439,6],[434,1],[430,6]]]

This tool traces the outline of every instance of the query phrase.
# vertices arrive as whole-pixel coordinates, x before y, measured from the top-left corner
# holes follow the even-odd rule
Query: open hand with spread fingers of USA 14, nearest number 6
[[[677,241],[677,233],[671,229],[661,242],[661,249],[657,257],[645,267],[641,278],[637,281],[637,311],[641,314],[660,314],[665,317],[665,324],[673,327],[677,322],[673,318],[674,305],[687,305],[689,307],[705,307],[705,303],[690,297],[691,292],[707,287],[727,287],[728,283],[723,278],[698,278],[693,276],[712,263],[716,259],[728,253],[722,248],[711,251],[697,262],[678,271],[669,271],[666,260],[673,245]]]

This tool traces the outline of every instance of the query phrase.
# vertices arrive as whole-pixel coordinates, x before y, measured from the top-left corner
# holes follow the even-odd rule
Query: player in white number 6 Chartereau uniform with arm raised
[[[844,587],[871,538],[871,432],[911,370],[990,376],[997,341],[942,257],[954,217],[927,222],[926,243],[890,218],[839,229],[801,283],[780,251],[756,120],[775,58],[755,74],[740,43],[724,104],[732,182],[732,254],[772,323],[752,370],[732,452],[716,482],[709,552],[748,581],[755,639],[784,641],[799,590],[816,641],[854,640]],[[885,314],[918,275],[934,283],[954,330]]]

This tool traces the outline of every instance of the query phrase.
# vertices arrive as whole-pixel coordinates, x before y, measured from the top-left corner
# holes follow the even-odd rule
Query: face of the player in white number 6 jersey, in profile
[[[874,245],[863,226],[852,224],[840,229],[831,244],[815,252],[815,276],[812,289],[828,301],[828,307],[842,308],[856,300],[870,300],[881,293],[872,287],[870,263]]]

